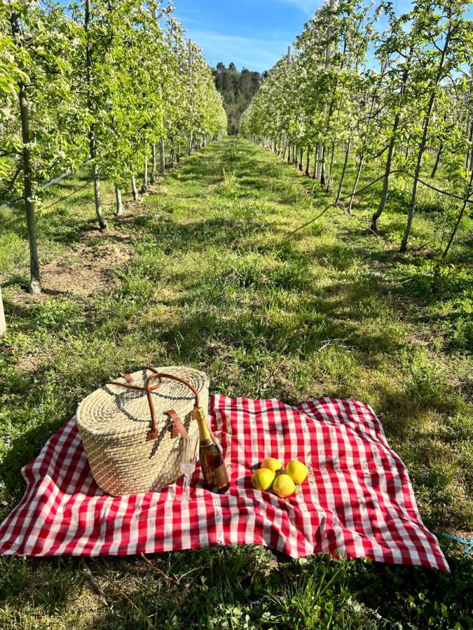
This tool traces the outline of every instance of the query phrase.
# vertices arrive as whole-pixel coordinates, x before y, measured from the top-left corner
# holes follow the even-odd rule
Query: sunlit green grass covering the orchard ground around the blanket
[[[368,402],[409,468],[425,524],[472,535],[471,224],[452,264],[435,264],[453,207],[423,190],[407,255],[397,253],[409,198],[399,178],[380,238],[366,233],[376,187],[353,216],[329,209],[290,236],[330,198],[311,195],[313,182],[275,155],[228,138],[141,203],[128,200],[127,216],[110,218],[101,235],[85,179],[62,182],[39,213],[41,297],[22,288],[22,213],[0,211],[0,516],[22,495],[21,466],[78,400],[146,363],[185,363],[210,375],[214,393]],[[113,190],[103,188],[111,213]],[[71,284],[88,269],[90,286],[70,293],[58,269]],[[154,556],[179,587],[141,558],[90,568],[0,559],[0,626],[467,628],[473,563],[441,542],[451,575],[327,556],[288,561],[252,546]]]

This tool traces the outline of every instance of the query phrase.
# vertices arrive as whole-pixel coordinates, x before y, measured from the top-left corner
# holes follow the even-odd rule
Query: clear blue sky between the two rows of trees
[[[322,0],[174,0],[176,15],[211,65],[268,70]],[[394,0],[399,13],[409,0]]]

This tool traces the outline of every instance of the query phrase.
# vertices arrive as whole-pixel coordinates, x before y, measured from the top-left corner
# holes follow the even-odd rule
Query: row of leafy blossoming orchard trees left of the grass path
[[[29,290],[41,291],[35,205],[44,186],[88,162],[95,212],[100,179],[146,190],[158,172],[226,132],[200,48],[171,3],[84,0],[0,3],[0,203],[25,204]],[[144,181],[137,184],[138,174]]]

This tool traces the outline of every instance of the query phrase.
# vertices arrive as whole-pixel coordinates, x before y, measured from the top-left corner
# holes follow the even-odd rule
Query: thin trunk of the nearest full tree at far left
[[[18,15],[11,14],[11,32],[13,39],[21,47],[18,38],[20,27],[18,25]],[[19,83],[18,104],[20,106],[21,133],[22,133],[22,167],[23,167],[23,200],[25,202],[25,214],[28,228],[29,241],[29,293],[41,293],[41,273],[39,270],[38,243],[36,240],[36,220],[34,216],[33,201],[33,174],[31,158],[31,137],[29,134],[29,109],[27,99],[27,89],[24,83]]]

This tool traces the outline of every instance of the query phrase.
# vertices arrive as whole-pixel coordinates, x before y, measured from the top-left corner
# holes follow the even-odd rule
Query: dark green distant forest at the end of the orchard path
[[[221,62],[217,64],[213,73],[217,90],[224,97],[228,134],[236,135],[242,113],[258,91],[261,76],[259,72],[252,72],[246,68],[239,72],[233,63],[227,68]]]

